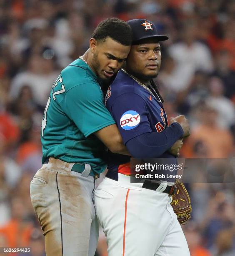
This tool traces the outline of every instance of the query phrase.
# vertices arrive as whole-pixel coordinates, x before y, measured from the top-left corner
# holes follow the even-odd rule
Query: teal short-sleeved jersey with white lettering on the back
[[[105,146],[93,134],[115,123],[105,108],[98,77],[77,59],[52,85],[42,120],[42,163],[47,157],[105,170]]]

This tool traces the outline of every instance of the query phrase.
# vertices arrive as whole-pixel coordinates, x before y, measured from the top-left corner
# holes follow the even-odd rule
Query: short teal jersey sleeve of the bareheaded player
[[[97,84],[86,83],[73,87],[60,104],[85,137],[115,123],[105,108],[103,94]]]

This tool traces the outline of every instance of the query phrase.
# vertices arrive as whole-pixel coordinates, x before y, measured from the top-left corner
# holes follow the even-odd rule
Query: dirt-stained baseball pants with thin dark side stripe
[[[94,256],[99,225],[92,193],[94,177],[50,158],[30,184],[33,208],[45,236],[47,256]]]

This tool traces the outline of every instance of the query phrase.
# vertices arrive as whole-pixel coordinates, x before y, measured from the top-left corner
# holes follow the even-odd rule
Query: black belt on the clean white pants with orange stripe
[[[105,177],[118,181],[118,173],[117,172],[108,171]],[[161,183],[156,183],[150,179],[145,179],[145,182],[143,183],[142,187],[146,188],[146,189],[156,190],[160,186],[160,184]],[[173,186],[167,185],[165,190],[162,192],[167,193],[168,195],[174,195],[176,193],[176,191],[177,191],[177,189],[176,189],[175,185],[173,185]]]

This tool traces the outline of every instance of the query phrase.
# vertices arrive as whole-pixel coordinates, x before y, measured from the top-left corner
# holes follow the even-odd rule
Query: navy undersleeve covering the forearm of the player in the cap
[[[178,123],[171,124],[161,133],[144,133],[126,143],[128,151],[135,158],[155,158],[173,146],[183,136],[183,129]]]

